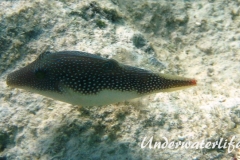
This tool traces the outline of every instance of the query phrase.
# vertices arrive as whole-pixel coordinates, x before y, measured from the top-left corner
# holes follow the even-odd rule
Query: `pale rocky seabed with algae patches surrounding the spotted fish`
[[[141,148],[240,142],[240,0],[1,0],[0,160],[236,160],[240,150]],[[81,107],[10,88],[45,51],[77,50],[195,78],[196,87]]]

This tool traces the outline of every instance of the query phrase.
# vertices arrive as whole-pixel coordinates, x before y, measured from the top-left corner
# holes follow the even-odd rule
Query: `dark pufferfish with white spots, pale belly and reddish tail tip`
[[[80,51],[42,53],[7,76],[7,85],[81,106],[121,102],[196,85],[195,79],[153,73]]]

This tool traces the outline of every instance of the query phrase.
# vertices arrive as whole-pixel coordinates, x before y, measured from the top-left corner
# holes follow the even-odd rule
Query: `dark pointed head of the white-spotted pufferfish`
[[[57,68],[46,58],[47,54],[41,54],[34,62],[10,73],[7,85],[27,90],[58,91],[59,79],[53,74]]]

